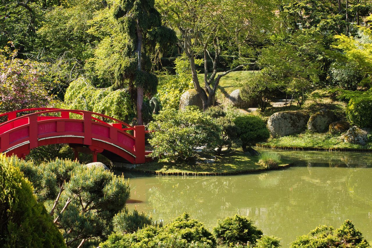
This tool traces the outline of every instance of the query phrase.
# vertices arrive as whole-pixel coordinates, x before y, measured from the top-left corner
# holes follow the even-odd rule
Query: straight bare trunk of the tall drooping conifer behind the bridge
[[[138,25],[137,20],[137,50],[138,56],[138,68],[137,70],[142,71],[142,30],[140,25]],[[137,86],[137,121],[138,125],[143,125],[143,116],[142,116],[142,105],[143,105],[143,85],[140,82],[139,86]]]

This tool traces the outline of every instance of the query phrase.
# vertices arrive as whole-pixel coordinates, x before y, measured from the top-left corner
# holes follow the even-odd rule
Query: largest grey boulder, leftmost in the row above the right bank
[[[276,112],[267,120],[267,128],[272,137],[298,134],[306,130],[309,115],[302,111]]]

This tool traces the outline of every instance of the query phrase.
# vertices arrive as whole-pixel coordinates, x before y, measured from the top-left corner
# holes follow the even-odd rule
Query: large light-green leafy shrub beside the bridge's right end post
[[[165,109],[149,125],[153,157],[190,159],[197,147],[213,150],[219,142],[220,128],[211,117],[196,108]]]

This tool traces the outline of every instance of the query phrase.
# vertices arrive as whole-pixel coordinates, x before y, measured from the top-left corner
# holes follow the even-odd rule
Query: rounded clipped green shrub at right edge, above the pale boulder
[[[372,97],[352,98],[346,108],[347,120],[358,127],[372,126]]]

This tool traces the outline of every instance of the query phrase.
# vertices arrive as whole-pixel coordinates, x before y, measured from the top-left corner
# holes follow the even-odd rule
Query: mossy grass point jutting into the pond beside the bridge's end
[[[235,151],[224,156],[205,154],[202,157],[204,158],[177,162],[154,160],[137,166],[135,171],[170,175],[222,175],[254,173],[265,170],[257,163],[258,156],[246,155],[241,151]],[[214,160],[213,163],[211,163],[212,160]],[[283,165],[280,165],[279,168],[287,167],[288,163],[290,161],[283,160]]]

